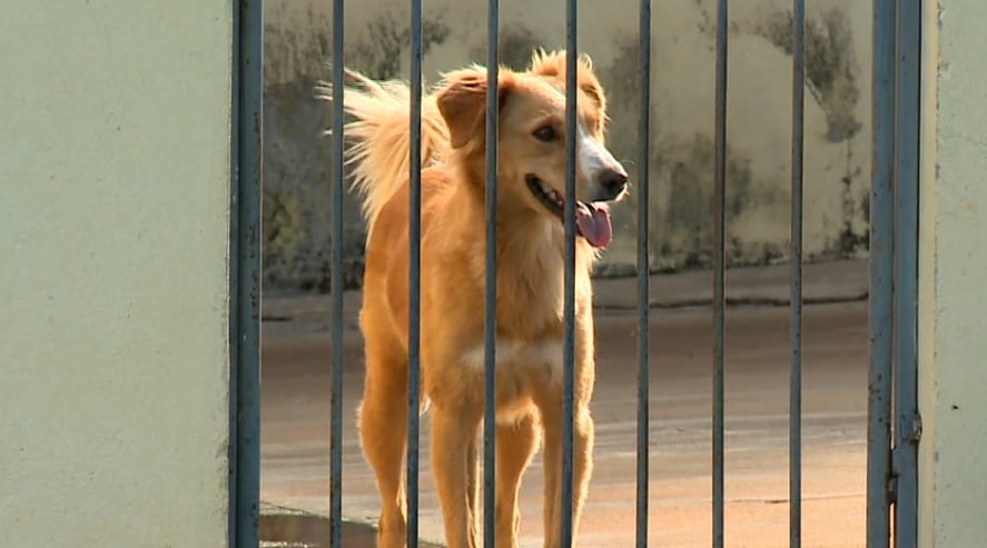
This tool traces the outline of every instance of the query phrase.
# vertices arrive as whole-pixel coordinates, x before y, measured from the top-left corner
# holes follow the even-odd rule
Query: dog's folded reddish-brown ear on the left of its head
[[[448,127],[453,148],[463,148],[471,141],[483,143],[486,122],[486,70],[470,69],[445,76],[446,86],[438,92],[438,111]],[[511,73],[501,70],[497,78],[497,111],[512,86]]]

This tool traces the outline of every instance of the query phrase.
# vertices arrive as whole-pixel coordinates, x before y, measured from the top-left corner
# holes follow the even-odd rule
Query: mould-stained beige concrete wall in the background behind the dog
[[[867,251],[870,172],[871,2],[809,2],[806,99],[806,252]],[[482,0],[432,0],[424,13],[425,76],[486,58]],[[651,181],[652,267],[709,265],[713,186],[715,1],[653,9]],[[348,2],[346,64],[375,77],[407,78],[407,3]],[[790,0],[730,3],[728,255],[732,265],[788,253],[791,57]],[[636,2],[581,2],[580,48],[602,76],[612,106],[610,143],[634,176],[638,162]],[[328,79],[330,4],[265,2],[265,281],[270,288],[325,289],[329,240],[328,108],[313,86]],[[502,61],[524,64],[535,47],[565,43],[562,4],[501,2]],[[523,68],[523,66],[521,67]],[[363,225],[347,202],[344,255],[359,281]],[[634,265],[635,205],[614,208],[616,237],[604,267]],[[352,267],[352,268],[351,268]]]

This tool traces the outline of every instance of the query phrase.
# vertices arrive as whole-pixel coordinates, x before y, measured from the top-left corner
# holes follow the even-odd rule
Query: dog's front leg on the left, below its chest
[[[478,538],[475,516],[475,492],[471,492],[470,467],[476,459],[476,434],[480,416],[474,409],[435,406],[432,416],[432,472],[442,508],[448,548],[476,548]],[[473,450],[470,445],[473,445]],[[474,479],[475,481],[475,479]]]

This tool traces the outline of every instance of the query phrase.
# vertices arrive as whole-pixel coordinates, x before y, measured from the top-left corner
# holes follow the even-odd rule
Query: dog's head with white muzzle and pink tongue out
[[[566,134],[576,142],[576,228],[591,246],[612,238],[608,202],[626,195],[628,173],[604,145],[605,98],[588,59],[579,61],[576,124],[565,124],[565,53],[537,53],[527,71],[501,69],[497,82],[499,209],[563,219]],[[445,74],[437,103],[454,149],[485,161],[486,70]],[[482,180],[482,178],[481,178]]]

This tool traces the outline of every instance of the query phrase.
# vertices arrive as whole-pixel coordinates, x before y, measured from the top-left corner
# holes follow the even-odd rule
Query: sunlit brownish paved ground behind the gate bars
[[[728,271],[726,338],[726,544],[788,546],[789,309],[787,266]],[[711,539],[712,316],[709,272],[653,276],[650,321],[649,546],[708,547]],[[635,280],[595,285],[595,470],[580,546],[634,540]],[[867,262],[806,267],[802,546],[863,546],[867,405]],[[379,502],[359,452],[363,389],[357,292],[345,295],[344,546],[372,547]],[[261,498],[268,540],[327,546],[330,345],[325,296],[265,300]],[[395,425],[395,428],[402,428]],[[421,531],[441,540],[421,445]],[[522,486],[522,547],[541,546],[540,456]],[[284,520],[284,515],[308,521]],[[287,524],[287,525],[286,525]],[[292,526],[292,524],[296,524]],[[292,531],[295,527],[296,531]],[[299,532],[302,531],[302,532]],[[304,532],[308,531],[308,532]],[[303,545],[298,545],[303,546]]]

